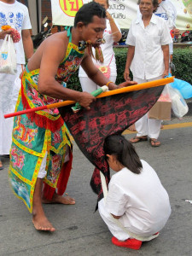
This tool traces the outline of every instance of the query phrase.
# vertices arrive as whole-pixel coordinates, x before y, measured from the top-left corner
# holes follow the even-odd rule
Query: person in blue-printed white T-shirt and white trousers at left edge
[[[1,27],[9,25],[20,32],[20,41],[15,43],[17,55],[17,73],[15,75],[0,73],[0,155],[9,154],[12,142],[13,118],[4,119],[5,113],[15,111],[15,104],[20,90],[19,75],[25,65],[26,58],[33,54],[33,44],[29,29],[32,28],[28,9],[15,0],[0,0],[0,49],[3,39],[10,31],[2,31]],[[0,159],[0,169],[3,169]]]

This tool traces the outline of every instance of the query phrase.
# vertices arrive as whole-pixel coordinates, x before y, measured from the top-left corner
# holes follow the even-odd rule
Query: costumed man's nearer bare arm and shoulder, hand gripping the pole
[[[82,107],[90,109],[90,103],[96,100],[94,96],[91,96],[88,92],[79,92],[64,88],[55,80],[58,67],[66,53],[66,47],[63,41],[63,38],[50,37],[39,46],[35,55],[32,56],[32,61],[38,57],[41,59],[38,91],[57,99],[79,102]],[[37,56],[38,52],[39,56]],[[31,70],[30,66],[32,67],[29,61],[29,70]]]

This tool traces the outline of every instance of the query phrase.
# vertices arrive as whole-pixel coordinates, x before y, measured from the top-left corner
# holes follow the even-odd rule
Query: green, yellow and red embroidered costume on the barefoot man
[[[83,55],[84,52],[79,52],[75,45],[69,43],[67,57],[61,62],[55,79],[65,85],[63,82],[67,82],[77,70]],[[23,73],[16,112],[60,101],[38,92],[38,74],[38,69]],[[29,212],[32,212],[35,183],[46,152],[46,199],[51,200],[56,188],[57,193],[62,195],[67,187],[73,158],[70,134],[58,109],[47,109],[15,117],[12,140],[9,181],[15,195],[24,201]],[[70,160],[65,163],[67,147],[70,148]]]

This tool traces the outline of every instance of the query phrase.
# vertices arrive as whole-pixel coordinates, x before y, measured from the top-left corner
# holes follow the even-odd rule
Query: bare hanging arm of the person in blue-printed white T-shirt
[[[23,40],[23,47],[26,54],[27,60],[30,59],[33,55],[33,44],[30,32],[28,29],[21,31],[21,37]]]

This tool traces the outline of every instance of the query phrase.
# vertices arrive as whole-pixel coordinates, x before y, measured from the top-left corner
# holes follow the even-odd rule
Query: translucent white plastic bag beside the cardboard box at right
[[[179,90],[172,88],[171,84],[167,84],[167,88],[172,100],[172,111],[177,118],[182,118],[189,111],[188,105]]]

